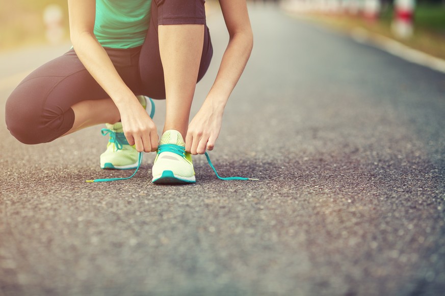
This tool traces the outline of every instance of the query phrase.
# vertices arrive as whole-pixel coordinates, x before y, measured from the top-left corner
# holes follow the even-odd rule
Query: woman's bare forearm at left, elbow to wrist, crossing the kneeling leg
[[[116,106],[124,106],[134,97],[117,73],[107,52],[89,32],[83,32],[71,37],[73,48],[82,64],[97,83],[110,96]]]

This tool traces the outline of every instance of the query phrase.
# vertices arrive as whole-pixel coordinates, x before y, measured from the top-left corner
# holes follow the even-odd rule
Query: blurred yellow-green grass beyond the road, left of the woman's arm
[[[45,42],[43,11],[50,4],[61,7],[68,38],[66,0],[2,0],[0,4],[0,50]]]

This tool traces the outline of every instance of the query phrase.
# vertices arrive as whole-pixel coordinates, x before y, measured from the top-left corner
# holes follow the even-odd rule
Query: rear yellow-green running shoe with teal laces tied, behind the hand
[[[139,102],[153,118],[154,102],[151,98],[137,96]],[[129,145],[122,130],[122,123],[106,124],[102,135],[109,135],[107,150],[100,155],[100,168],[102,169],[135,169],[139,163],[139,153],[136,147]]]

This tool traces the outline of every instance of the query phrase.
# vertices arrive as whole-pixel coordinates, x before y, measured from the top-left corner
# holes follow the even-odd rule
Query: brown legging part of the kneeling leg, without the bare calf
[[[106,50],[122,79],[137,91],[140,48]],[[109,98],[107,93],[70,50],[39,67],[15,88],[6,103],[6,123],[22,142],[51,141],[71,129],[71,106],[105,98]]]

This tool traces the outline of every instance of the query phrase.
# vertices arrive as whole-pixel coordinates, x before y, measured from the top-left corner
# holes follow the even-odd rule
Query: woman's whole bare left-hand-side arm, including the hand
[[[94,35],[96,1],[68,0],[68,13],[73,48],[82,64],[118,108],[128,143],[135,145],[138,152],[155,151],[158,146],[156,126],[119,76],[107,51]]]

